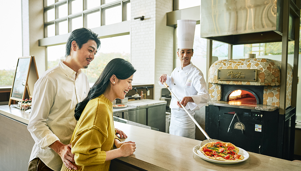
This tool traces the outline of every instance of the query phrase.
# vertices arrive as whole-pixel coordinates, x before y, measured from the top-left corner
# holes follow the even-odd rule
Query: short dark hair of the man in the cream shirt
[[[71,43],[73,41],[76,41],[76,44],[78,45],[78,47],[80,49],[80,48],[82,48],[83,44],[87,43],[89,40],[93,40],[96,42],[97,49],[98,49],[100,47],[100,40],[97,36],[98,36],[98,34],[92,32],[92,30],[90,30],[90,29],[79,28],[79,29],[73,30],[73,32],[71,32],[71,34],[67,40],[67,43],[66,43],[65,57],[70,55]]]

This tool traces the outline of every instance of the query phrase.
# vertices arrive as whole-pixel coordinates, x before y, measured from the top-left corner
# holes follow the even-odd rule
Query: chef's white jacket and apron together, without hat
[[[209,101],[203,73],[192,62],[183,68],[176,67],[171,76],[167,75],[166,83],[180,101],[187,96],[193,99],[194,102],[188,102],[185,106],[192,116],[195,110],[199,110]],[[159,84],[163,86],[160,81]],[[194,139],[195,124],[185,110],[178,107],[173,95],[169,107],[171,108],[169,134]]]

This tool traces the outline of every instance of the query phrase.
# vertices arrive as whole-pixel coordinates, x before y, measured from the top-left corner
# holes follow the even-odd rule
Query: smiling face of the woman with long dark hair
[[[113,86],[116,98],[124,99],[126,93],[132,90],[133,75],[127,79],[116,79],[116,85]]]

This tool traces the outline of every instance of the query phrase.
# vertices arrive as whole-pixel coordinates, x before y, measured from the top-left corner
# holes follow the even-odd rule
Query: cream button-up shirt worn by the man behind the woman
[[[61,157],[49,145],[57,140],[69,144],[76,119],[74,109],[90,90],[87,76],[81,70],[73,71],[59,61],[56,67],[45,71],[33,90],[32,109],[28,131],[35,141],[29,161],[40,158],[55,171],[62,167]]]

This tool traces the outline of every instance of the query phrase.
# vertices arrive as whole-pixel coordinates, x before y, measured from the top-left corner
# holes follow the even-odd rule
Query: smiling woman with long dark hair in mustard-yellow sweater
[[[116,98],[124,99],[132,89],[135,71],[124,59],[111,60],[88,96],[76,105],[74,116],[78,122],[71,138],[71,152],[77,170],[109,170],[110,160],[135,152],[135,142],[121,143],[116,136],[112,108]],[[112,150],[113,145],[117,149]],[[61,171],[70,170],[63,164]]]

